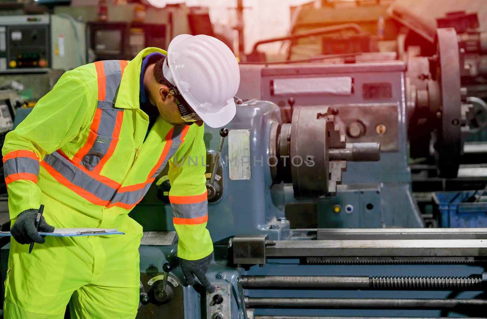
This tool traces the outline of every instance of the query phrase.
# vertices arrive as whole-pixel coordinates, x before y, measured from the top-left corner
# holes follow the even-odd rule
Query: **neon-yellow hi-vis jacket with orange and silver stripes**
[[[201,162],[204,126],[172,126],[159,116],[144,142],[149,117],[139,107],[139,80],[142,58],[153,52],[167,54],[148,48],[131,61],[99,61],[65,72],[6,135],[2,155],[11,219],[38,209],[42,197],[109,225],[131,211],[169,163],[178,256],[196,260],[213,251]],[[199,165],[181,164],[189,157]]]

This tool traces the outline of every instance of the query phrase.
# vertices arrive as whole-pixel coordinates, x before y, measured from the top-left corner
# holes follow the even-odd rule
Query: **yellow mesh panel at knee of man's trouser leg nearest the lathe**
[[[123,313],[73,294],[69,304],[71,319],[134,319],[137,312]]]

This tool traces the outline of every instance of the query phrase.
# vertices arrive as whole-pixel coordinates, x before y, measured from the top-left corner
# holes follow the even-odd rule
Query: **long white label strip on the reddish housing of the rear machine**
[[[351,95],[353,86],[352,78],[348,76],[275,79],[273,82],[274,95]]]

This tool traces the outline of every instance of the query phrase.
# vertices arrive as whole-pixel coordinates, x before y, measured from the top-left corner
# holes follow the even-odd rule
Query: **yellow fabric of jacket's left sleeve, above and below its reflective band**
[[[96,83],[96,78],[87,71],[64,73],[55,87],[37,102],[27,118],[5,136],[2,155],[29,150],[42,160],[46,154],[72,142],[80,128],[89,125],[93,117],[96,104],[91,101],[86,86],[93,81]],[[39,208],[41,192],[34,182],[14,181],[8,184],[7,192],[10,218],[27,209]]]

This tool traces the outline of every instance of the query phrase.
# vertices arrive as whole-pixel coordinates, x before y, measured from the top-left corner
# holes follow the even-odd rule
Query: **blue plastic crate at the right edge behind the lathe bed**
[[[487,227],[487,202],[465,202],[474,193],[475,191],[434,193],[433,199],[438,208],[439,227]],[[476,195],[480,195],[480,193],[481,191]]]

